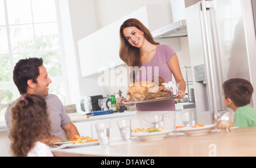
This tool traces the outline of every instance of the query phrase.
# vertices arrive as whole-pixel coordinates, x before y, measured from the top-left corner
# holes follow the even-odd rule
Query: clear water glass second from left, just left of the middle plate
[[[123,140],[131,138],[131,119],[118,120],[118,127]]]

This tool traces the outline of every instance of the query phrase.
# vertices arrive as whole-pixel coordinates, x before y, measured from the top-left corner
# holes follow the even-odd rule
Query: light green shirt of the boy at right
[[[234,117],[234,127],[256,127],[256,111],[250,105],[238,107]]]

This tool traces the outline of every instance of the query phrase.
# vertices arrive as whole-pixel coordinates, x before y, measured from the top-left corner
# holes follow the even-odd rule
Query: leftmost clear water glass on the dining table
[[[97,123],[96,130],[100,140],[100,145],[109,145],[110,122]]]

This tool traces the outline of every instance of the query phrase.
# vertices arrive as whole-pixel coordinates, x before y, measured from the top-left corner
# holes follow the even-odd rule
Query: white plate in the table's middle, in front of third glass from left
[[[171,129],[167,129],[167,130],[162,130],[159,132],[134,132],[131,133],[131,136],[133,137],[139,137],[141,138],[141,140],[147,140],[147,141],[151,141],[151,140],[162,140],[163,138],[165,138],[168,133],[172,132],[174,130]]]

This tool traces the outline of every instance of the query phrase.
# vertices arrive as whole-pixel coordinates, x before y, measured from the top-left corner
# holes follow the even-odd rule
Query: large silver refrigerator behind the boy
[[[185,9],[198,123],[212,124],[214,114],[232,112],[222,103],[226,80],[244,78],[256,90],[254,3],[203,0]]]

